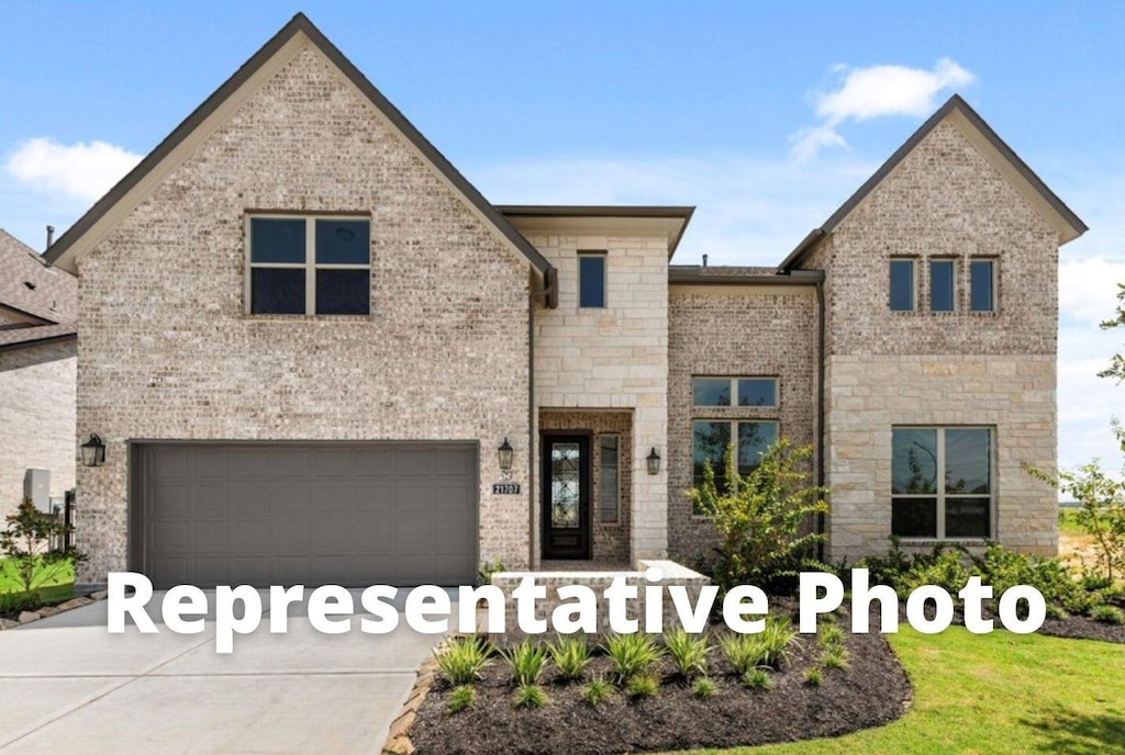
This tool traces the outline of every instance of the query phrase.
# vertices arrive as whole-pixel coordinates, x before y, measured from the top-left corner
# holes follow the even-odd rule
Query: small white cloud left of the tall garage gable
[[[60,144],[37,137],[8,157],[8,173],[46,194],[92,202],[141,162],[142,155],[106,142]]]

